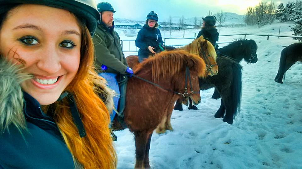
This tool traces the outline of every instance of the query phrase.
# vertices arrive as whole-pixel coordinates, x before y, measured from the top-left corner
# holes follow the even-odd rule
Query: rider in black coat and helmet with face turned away
[[[217,19],[214,15],[208,15],[202,19],[204,20],[204,22],[202,23],[202,28],[196,38],[203,36],[204,39],[210,41],[215,50],[217,50],[218,44],[216,43],[216,41],[218,41],[219,36],[219,33],[217,32],[217,28],[215,26]]]

